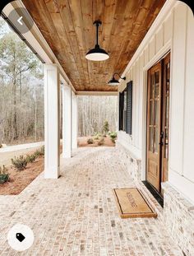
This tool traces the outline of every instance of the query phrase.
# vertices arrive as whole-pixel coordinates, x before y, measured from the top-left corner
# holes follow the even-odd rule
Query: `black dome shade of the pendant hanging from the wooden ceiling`
[[[99,47],[98,44],[95,45],[94,49],[90,49],[90,51],[85,55],[85,58],[92,61],[104,61],[109,58],[109,54]]]

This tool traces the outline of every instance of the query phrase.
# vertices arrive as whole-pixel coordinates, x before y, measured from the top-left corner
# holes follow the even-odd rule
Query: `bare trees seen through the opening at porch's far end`
[[[109,122],[109,130],[118,128],[117,96],[78,96],[78,135],[90,136],[102,133],[104,121]]]

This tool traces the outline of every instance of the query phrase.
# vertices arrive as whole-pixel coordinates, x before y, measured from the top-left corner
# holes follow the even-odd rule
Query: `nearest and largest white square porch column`
[[[58,179],[59,156],[59,97],[60,82],[58,67],[44,65],[44,178]]]

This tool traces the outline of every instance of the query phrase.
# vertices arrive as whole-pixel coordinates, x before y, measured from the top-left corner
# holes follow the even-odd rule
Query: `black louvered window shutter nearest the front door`
[[[127,83],[127,133],[132,135],[132,81]]]

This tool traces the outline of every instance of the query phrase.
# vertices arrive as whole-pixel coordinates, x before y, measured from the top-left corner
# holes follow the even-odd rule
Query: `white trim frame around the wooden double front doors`
[[[148,70],[150,67],[158,63],[166,54],[170,52],[170,59],[173,59],[173,50],[172,50],[172,40],[169,40],[167,44],[164,45],[162,49],[155,54],[144,67],[143,67],[143,104],[142,104],[142,155],[141,155],[141,180],[146,180],[146,150],[147,150],[147,77]],[[170,62],[170,91],[172,86],[172,68],[173,62]],[[169,98],[169,134],[170,134],[170,115],[171,115],[171,95]],[[169,152],[170,152],[170,139],[169,139]],[[170,156],[169,156],[170,158]]]

